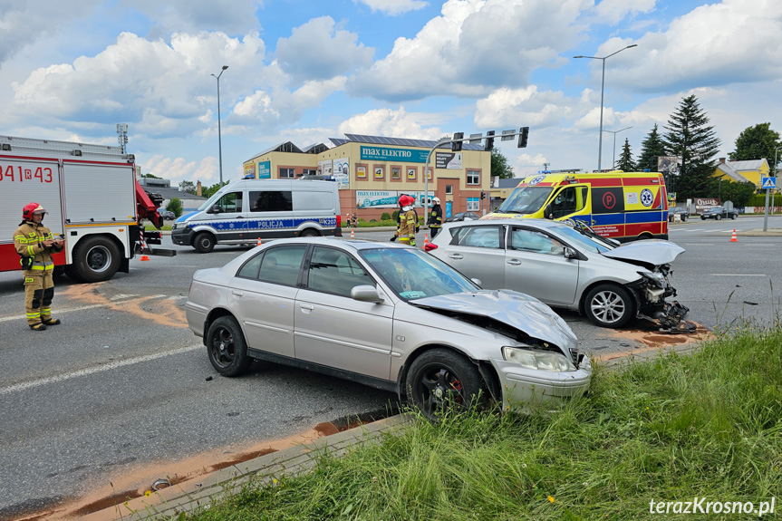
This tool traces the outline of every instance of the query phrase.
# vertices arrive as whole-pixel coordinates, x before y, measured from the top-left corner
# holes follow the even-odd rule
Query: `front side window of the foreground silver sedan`
[[[315,246],[307,287],[314,291],[350,296],[357,285],[375,285],[352,256],[333,248]]]

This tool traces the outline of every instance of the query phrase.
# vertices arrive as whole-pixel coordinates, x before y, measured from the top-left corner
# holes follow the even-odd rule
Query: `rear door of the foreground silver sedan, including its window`
[[[276,246],[250,258],[231,280],[228,307],[247,346],[294,358],[294,302],[306,245]]]

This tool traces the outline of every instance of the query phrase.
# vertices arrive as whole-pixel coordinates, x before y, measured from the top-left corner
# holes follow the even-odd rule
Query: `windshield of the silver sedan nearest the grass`
[[[405,301],[480,289],[466,276],[420,250],[373,248],[362,250],[360,254]]]

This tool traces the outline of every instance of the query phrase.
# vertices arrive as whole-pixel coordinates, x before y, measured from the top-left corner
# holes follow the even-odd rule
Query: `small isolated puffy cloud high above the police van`
[[[322,16],[295,27],[288,38],[277,40],[280,68],[295,80],[323,80],[372,63],[373,50],[356,43],[358,35],[334,27],[331,16]]]

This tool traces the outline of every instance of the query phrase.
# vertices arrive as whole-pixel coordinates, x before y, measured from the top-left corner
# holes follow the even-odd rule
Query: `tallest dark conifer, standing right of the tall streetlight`
[[[665,148],[671,156],[681,158],[677,198],[708,196],[713,186],[712,174],[717,168],[714,156],[719,150],[719,138],[694,94],[680,101],[665,130]]]

